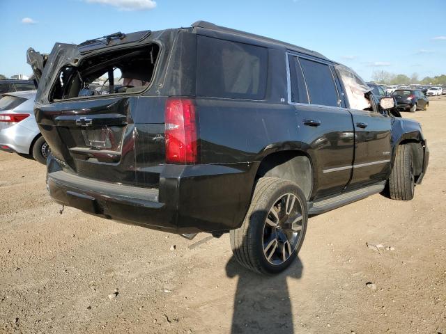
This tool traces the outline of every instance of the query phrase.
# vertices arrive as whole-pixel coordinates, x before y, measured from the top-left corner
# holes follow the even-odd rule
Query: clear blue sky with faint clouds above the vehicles
[[[365,80],[446,74],[445,0],[0,0],[0,74],[31,74],[29,47],[199,20],[318,51]]]

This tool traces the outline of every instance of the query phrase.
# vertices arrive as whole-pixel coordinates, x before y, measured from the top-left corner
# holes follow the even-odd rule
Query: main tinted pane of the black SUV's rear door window
[[[330,66],[305,58],[300,58],[300,65],[307,82],[309,102],[323,106],[339,106]]]

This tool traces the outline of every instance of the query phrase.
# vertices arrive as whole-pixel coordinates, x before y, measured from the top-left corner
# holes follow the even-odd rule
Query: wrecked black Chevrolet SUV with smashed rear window
[[[256,272],[289,266],[310,214],[386,184],[410,200],[426,172],[420,124],[390,115],[392,98],[278,40],[196,22],[28,59],[56,202],[188,238],[230,232]]]

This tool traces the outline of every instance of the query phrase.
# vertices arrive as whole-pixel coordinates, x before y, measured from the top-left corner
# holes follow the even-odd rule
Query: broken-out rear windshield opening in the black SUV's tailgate
[[[107,52],[86,58],[79,67],[63,67],[50,100],[139,93],[151,84],[159,50],[158,45],[148,45]]]

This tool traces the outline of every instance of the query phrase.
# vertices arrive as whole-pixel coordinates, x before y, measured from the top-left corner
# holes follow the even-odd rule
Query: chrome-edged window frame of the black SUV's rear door
[[[302,76],[303,76],[304,81],[305,81],[305,89],[307,90],[308,103],[293,102],[291,100],[291,72],[290,72],[290,64],[289,64],[289,55],[298,58],[300,70],[302,71]],[[309,61],[314,61],[316,63],[321,63],[323,65],[327,65],[328,66],[328,68],[330,69],[330,72],[332,74],[332,80],[333,80],[334,88],[335,88],[336,93],[337,93],[338,106],[327,106],[325,104],[313,104],[311,102],[311,99],[309,98],[307,80],[305,79],[305,73],[303,72],[302,65],[300,64],[300,58],[307,59]],[[325,60],[319,59],[319,58],[313,58],[311,56],[305,56],[305,55],[298,54],[297,52],[293,52],[293,51],[286,51],[285,52],[285,61],[286,61],[286,80],[287,80],[286,89],[287,89],[288,104],[291,104],[293,106],[316,106],[318,108],[330,108],[330,109],[334,109],[334,110],[339,110],[339,109],[345,110],[346,109],[345,102],[344,102],[344,92],[341,91],[339,86],[338,86],[339,83],[337,82],[337,76],[335,76],[335,74],[333,73],[333,69],[332,69],[332,65],[333,64],[330,61],[325,61]]]

